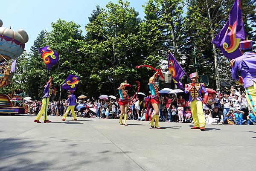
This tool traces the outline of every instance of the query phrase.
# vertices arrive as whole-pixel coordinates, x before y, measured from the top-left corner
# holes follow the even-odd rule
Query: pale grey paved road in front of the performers
[[[256,126],[0,116],[0,171],[256,171]]]

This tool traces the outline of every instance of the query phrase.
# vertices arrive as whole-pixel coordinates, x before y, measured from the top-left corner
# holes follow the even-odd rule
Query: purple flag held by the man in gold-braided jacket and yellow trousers
[[[170,74],[172,75],[172,78],[176,81],[175,84],[183,88],[182,83],[180,82],[180,78],[186,73],[183,68],[180,66],[178,61],[174,58],[172,53],[170,52],[169,58],[168,58],[168,68],[170,71]]]

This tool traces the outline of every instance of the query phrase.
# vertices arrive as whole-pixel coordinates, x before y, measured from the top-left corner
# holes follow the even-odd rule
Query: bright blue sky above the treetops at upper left
[[[96,5],[104,7],[110,0],[2,0],[0,19],[2,27],[12,29],[24,29],[29,35],[29,42],[25,49],[29,51],[38,33],[45,29],[51,30],[51,23],[59,18],[74,21],[81,25],[85,32],[85,25],[89,22],[88,17]],[[118,0],[111,0],[117,3]],[[144,17],[143,7],[148,0],[128,0],[130,6],[135,8],[140,17]]]

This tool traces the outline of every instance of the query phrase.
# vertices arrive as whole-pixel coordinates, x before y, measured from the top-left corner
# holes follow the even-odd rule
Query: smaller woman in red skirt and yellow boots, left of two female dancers
[[[125,87],[131,87],[130,84],[127,83],[127,81],[123,82],[120,84],[120,87],[118,87],[118,91],[119,91],[119,95],[120,98],[118,99],[118,103],[120,106],[120,110],[121,110],[121,114],[120,114],[120,119],[119,119],[119,123],[120,125],[125,125],[127,126],[128,124],[126,123],[126,119],[127,119],[127,108],[128,108],[128,102],[129,102],[129,96],[128,96],[128,91],[125,90]],[[122,116],[125,115],[124,118],[124,123],[122,122]]]

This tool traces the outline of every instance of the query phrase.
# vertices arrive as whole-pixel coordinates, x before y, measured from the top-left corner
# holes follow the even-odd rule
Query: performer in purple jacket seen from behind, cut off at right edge
[[[232,78],[237,80],[239,84],[244,84],[248,104],[256,116],[256,54],[252,50],[253,41],[241,41],[242,56],[231,60],[230,64],[232,66]]]

